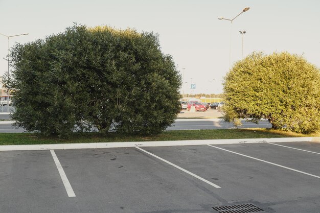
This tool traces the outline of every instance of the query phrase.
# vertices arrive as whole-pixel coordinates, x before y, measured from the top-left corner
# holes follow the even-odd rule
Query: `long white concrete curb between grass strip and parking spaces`
[[[66,150],[66,149],[101,149],[124,147],[167,147],[193,145],[221,145],[221,144],[253,144],[253,143],[282,143],[320,141],[320,137],[283,137],[283,138],[250,138],[250,139],[211,139],[211,140],[168,140],[168,141],[140,141],[140,142],[111,142],[87,144],[45,144],[45,145],[4,145],[0,151],[25,150]]]

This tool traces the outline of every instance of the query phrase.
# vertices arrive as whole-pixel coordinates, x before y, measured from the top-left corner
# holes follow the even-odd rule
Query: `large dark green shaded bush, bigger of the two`
[[[11,52],[15,125],[45,135],[157,134],[179,109],[178,75],[158,36],[75,25]]]

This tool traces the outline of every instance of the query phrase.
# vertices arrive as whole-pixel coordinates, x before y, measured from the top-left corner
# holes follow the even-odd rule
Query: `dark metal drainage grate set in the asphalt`
[[[261,212],[263,209],[255,206],[254,204],[239,204],[232,206],[216,206],[212,207],[219,213],[247,213],[247,212]]]

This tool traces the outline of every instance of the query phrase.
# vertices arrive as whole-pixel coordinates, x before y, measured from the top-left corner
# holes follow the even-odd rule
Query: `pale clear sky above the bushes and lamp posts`
[[[245,7],[232,25],[218,19],[232,19]],[[191,82],[194,93],[222,92],[229,59],[232,66],[242,58],[244,30],[244,56],[287,51],[320,67],[318,0],[0,0],[0,10],[0,33],[29,33],[10,38],[10,46],[62,32],[73,22],[158,33],[162,52],[173,56],[184,76],[185,93]],[[0,35],[1,75],[7,54],[8,39]]]

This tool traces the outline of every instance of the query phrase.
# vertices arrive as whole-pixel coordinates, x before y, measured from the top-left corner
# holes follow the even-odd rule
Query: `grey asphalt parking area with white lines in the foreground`
[[[320,212],[319,163],[316,142],[2,151],[0,212]]]

